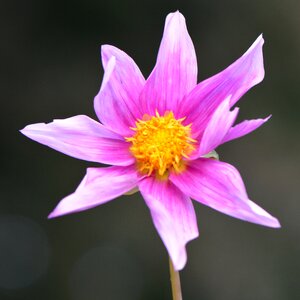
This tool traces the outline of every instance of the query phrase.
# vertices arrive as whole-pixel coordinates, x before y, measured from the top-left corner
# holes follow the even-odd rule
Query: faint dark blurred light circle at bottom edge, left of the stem
[[[85,253],[70,276],[73,300],[141,299],[142,273],[133,257],[120,248],[102,246]]]

